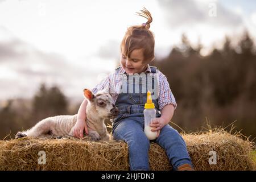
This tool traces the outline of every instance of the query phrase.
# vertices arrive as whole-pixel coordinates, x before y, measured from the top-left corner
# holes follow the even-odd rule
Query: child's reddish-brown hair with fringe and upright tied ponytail
[[[141,26],[127,28],[121,42],[121,50],[123,49],[126,57],[130,57],[134,49],[143,49],[143,61],[151,61],[155,58],[155,38],[153,32],[149,30],[152,16],[146,8],[143,8],[137,15],[147,18],[147,22],[142,23]]]

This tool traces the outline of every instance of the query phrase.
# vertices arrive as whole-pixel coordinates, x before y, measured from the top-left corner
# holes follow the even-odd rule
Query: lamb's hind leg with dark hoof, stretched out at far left
[[[54,125],[54,121],[51,118],[43,119],[42,121],[36,123],[34,127],[30,130],[24,132],[18,132],[15,138],[21,137],[47,137],[51,138],[51,127]]]

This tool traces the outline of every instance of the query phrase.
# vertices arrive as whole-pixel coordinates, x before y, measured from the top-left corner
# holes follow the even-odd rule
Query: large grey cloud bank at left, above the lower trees
[[[58,85],[68,97],[82,98],[81,90],[94,86],[96,77],[86,63],[40,51],[15,37],[0,39],[0,98],[31,97],[42,82]]]

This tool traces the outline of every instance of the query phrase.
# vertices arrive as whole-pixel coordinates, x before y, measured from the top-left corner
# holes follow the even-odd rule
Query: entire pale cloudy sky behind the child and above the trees
[[[167,56],[185,33],[202,55],[249,30],[256,37],[254,0],[0,0],[0,100],[31,98],[42,82],[69,98],[82,97],[119,60],[127,27],[152,14],[155,55]]]

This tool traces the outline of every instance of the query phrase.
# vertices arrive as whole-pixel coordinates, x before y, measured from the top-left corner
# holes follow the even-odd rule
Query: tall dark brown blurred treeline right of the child
[[[203,123],[228,126],[256,137],[256,53],[245,32],[236,46],[226,37],[222,49],[201,56],[185,35],[182,44],[154,65],[166,75],[176,98],[172,122],[186,131]]]

